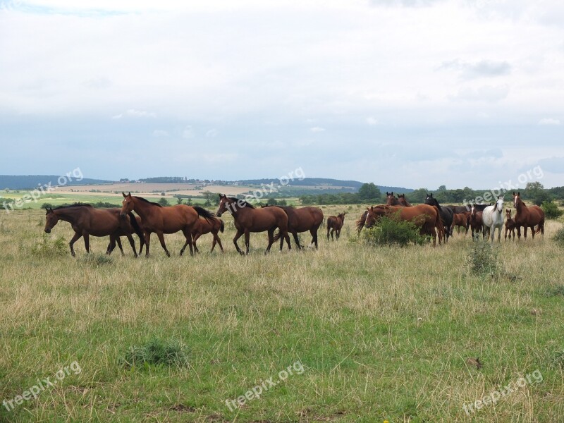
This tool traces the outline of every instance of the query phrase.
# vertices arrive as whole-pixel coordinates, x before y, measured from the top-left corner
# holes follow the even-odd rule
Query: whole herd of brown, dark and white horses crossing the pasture
[[[235,224],[235,238],[233,244],[235,249],[241,254],[248,254],[250,245],[250,233],[266,232],[268,233],[268,246],[265,254],[270,251],[272,244],[280,241],[280,250],[286,240],[288,249],[291,249],[290,236],[293,235],[295,244],[298,249],[300,245],[298,233],[309,231],[312,235],[310,245],[317,248],[317,231],[324,222],[324,215],[321,209],[317,207],[281,207],[268,205],[260,208],[255,207],[245,200],[235,197],[227,197],[219,195],[219,208],[217,212],[211,213],[199,206],[188,206],[186,204],[176,204],[175,206],[161,206],[155,202],[149,202],[142,197],[135,197],[131,193],[123,194],[123,205],[114,209],[96,209],[90,204],[73,204],[66,207],[49,208],[46,213],[46,223],[44,231],[50,233],[51,229],[59,220],[71,223],[71,227],[75,234],[69,242],[71,254],[74,256],[75,251],[73,244],[84,238],[85,248],[90,252],[90,235],[92,236],[108,236],[109,245],[106,254],[111,252],[118,245],[122,255],[123,248],[120,237],[125,236],[133,249],[133,254],[137,257],[135,241],[133,233],[140,238],[141,254],[145,246],[145,255],[149,255],[149,245],[151,234],[156,233],[166,255],[170,257],[170,252],[166,248],[164,242],[164,234],[176,233],[182,231],[185,236],[185,243],[180,250],[183,255],[186,247],[190,248],[190,255],[194,251],[199,252],[196,241],[205,233],[212,233],[213,243],[212,252],[219,244],[223,252],[223,245],[219,238],[219,232],[223,233],[224,224],[221,215],[228,212],[233,216]],[[520,228],[525,228],[525,238],[527,238],[527,228],[531,228],[532,237],[535,233],[544,234],[544,212],[540,207],[527,207],[520,198],[520,193],[513,192],[513,207],[516,210],[515,218],[511,218],[511,210],[505,210],[503,214],[503,197],[498,197],[496,204],[474,204],[472,207],[465,206],[441,206],[439,202],[428,194],[425,204],[417,204],[412,206],[405,195],[395,197],[393,192],[386,192],[386,204],[379,204],[367,208],[360,219],[356,221],[357,230],[362,228],[370,228],[381,218],[381,216],[393,216],[396,219],[412,221],[419,228],[422,235],[430,235],[433,238],[433,245],[436,245],[436,238],[439,237],[439,244],[442,240],[445,243],[448,238],[453,235],[453,228],[464,228],[466,233],[468,229],[472,229],[472,238],[474,234],[482,232],[485,237],[486,233],[490,233],[491,241],[494,242],[494,233],[498,228],[498,240],[501,240],[501,228],[505,221],[505,238],[509,232],[510,239],[515,238],[515,230],[517,238],[521,237]],[[137,216],[133,214],[135,212]],[[338,216],[329,216],[327,218],[327,240],[329,237],[338,240],[341,235],[341,228],[345,221],[345,214]],[[278,231],[275,233],[276,229]],[[240,249],[237,240],[245,235],[245,252]]]

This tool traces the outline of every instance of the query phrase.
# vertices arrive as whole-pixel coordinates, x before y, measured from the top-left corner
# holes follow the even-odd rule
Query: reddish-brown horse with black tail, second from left
[[[147,243],[147,250],[145,250],[145,257],[149,257],[149,244],[151,242],[151,233],[157,233],[161,247],[166,252],[167,257],[171,257],[171,253],[166,249],[164,243],[165,233],[176,233],[182,231],[186,241],[180,250],[180,255],[183,255],[186,246],[190,247],[190,255],[194,255],[192,250],[192,228],[197,222],[198,216],[203,216],[205,219],[211,219],[213,215],[206,209],[199,206],[187,206],[186,204],[176,204],[174,206],[161,206],[159,203],[149,202],[142,197],[135,197],[131,192],[123,195],[123,206],[121,207],[121,215],[125,216],[130,212],[135,212],[141,217],[143,221],[143,228],[145,229],[145,243]]]

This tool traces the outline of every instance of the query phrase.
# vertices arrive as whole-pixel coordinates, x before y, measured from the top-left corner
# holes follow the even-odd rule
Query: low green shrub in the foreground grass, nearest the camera
[[[185,366],[188,364],[188,348],[176,339],[151,338],[143,345],[131,345],[119,359],[119,364],[124,367]]]

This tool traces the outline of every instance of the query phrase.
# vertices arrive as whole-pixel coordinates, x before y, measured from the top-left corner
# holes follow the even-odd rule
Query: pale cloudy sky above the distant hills
[[[0,174],[564,185],[561,0],[0,0],[0,52]]]

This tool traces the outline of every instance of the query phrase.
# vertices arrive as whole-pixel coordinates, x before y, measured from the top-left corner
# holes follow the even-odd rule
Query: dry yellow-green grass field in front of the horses
[[[173,257],[153,237],[148,259],[127,242],[108,258],[106,238],[91,238],[89,257],[79,240],[73,258],[68,223],[44,235],[42,211],[1,212],[0,401],[56,384],[2,405],[0,421],[564,421],[560,223],[544,239],[502,240],[492,279],[470,273],[470,235],[369,247],[355,236],[360,207],[323,209],[348,214],[341,240],[320,234],[317,251],[265,256],[266,235],[252,234],[241,257],[226,215],[225,254],[207,253],[204,235],[202,254],[178,257],[176,234]],[[172,364],[128,366],[147,345]],[[267,388],[230,409],[256,386]]]

